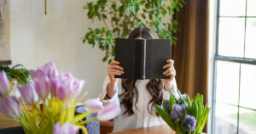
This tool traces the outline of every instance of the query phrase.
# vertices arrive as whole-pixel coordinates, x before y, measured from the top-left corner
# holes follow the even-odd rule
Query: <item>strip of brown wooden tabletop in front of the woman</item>
[[[111,134],[175,134],[175,131],[172,131],[170,126],[163,125],[163,126],[151,126],[151,127],[144,127],[138,128],[130,131],[119,131],[113,132]]]

